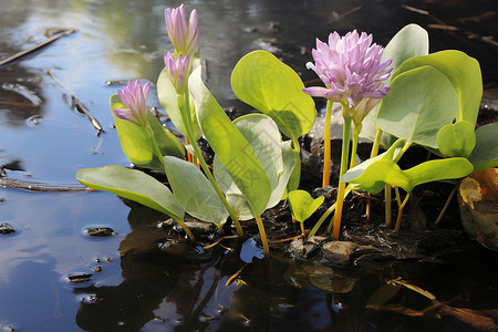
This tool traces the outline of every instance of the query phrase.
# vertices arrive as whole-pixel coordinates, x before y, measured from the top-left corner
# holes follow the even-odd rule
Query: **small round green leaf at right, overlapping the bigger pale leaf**
[[[445,157],[468,158],[476,146],[474,126],[467,121],[445,125],[437,134],[437,147]]]

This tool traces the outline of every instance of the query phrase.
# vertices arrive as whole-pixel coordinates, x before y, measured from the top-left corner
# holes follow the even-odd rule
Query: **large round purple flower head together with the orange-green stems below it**
[[[303,91],[312,96],[328,100],[324,125],[323,187],[330,181],[330,121],[332,102],[342,105],[343,144],[340,175],[347,170],[350,132],[353,123],[353,147],[351,165],[357,145],[357,136],[362,129],[363,118],[387,94],[390,86],[384,81],[391,75],[388,68],[392,60],[382,62],[383,48],[372,44],[372,34],[356,30],[340,37],[338,32],[329,35],[325,44],[317,39],[317,49],[312,51],[315,64],[307,63],[325,84],[325,87],[313,86]],[[338,200],[333,219],[333,238],[339,239],[341,216],[344,201],[345,183],[339,181]],[[331,222],[332,225],[332,222]],[[330,227],[329,227],[330,228]]]

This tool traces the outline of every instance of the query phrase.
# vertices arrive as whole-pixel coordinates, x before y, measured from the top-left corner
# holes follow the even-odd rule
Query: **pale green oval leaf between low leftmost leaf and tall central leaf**
[[[221,227],[228,211],[212,185],[193,163],[164,157],[166,175],[176,200],[193,217]]]

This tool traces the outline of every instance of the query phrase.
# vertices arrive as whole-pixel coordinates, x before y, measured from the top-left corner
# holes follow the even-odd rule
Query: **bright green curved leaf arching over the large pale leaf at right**
[[[433,66],[449,80],[458,96],[456,120],[468,121],[475,126],[483,98],[483,75],[479,62],[460,51],[440,51],[405,61],[393,74],[393,80],[404,72],[424,65]]]

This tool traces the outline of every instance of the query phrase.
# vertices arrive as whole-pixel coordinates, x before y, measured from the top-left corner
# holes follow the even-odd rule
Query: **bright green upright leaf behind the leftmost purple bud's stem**
[[[125,106],[117,94],[111,96],[111,110],[123,107]],[[114,113],[113,117],[121,147],[129,162],[135,166],[164,173],[162,163],[163,155],[172,155],[179,158],[185,157],[185,148],[181,142],[165,129],[151,112],[147,113],[147,120],[154,132],[155,143],[149,139],[145,128],[129,121],[122,120],[114,115]]]

